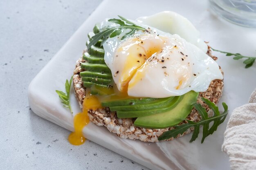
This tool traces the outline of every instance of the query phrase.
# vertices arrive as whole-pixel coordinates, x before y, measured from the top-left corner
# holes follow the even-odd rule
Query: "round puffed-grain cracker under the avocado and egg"
[[[85,52],[85,51],[84,51]],[[218,58],[211,54],[211,48],[208,46],[207,55],[213,58],[213,60],[217,60]],[[82,58],[80,58],[76,62],[76,68],[74,70],[73,76],[73,85],[74,91],[76,95],[76,99],[79,102],[81,108],[83,108],[83,99],[85,98],[85,88],[82,86],[83,82],[81,81],[81,77],[79,73],[84,71],[81,69],[81,63],[86,62]],[[221,68],[220,71],[222,72]],[[222,72],[223,74],[223,72]],[[211,102],[218,104],[218,101],[222,95],[224,82],[223,80],[215,79],[209,85],[209,88],[205,92],[200,92],[197,102],[202,104],[202,106],[206,109],[208,116],[211,117],[213,115],[213,111],[204,104],[200,97],[204,97],[209,99]],[[98,126],[105,126],[110,132],[117,134],[117,136],[124,139],[139,139],[145,142],[158,142],[157,138],[168,130],[172,130],[173,127],[164,128],[164,129],[148,129],[148,128],[140,128],[134,126],[135,118],[117,118],[116,112],[111,112],[109,108],[101,108],[97,110],[88,110],[88,116],[90,121]],[[197,110],[193,108],[191,113],[186,119],[192,121],[200,121],[201,116],[198,114]],[[186,121],[181,122],[180,124],[184,124]],[[179,125],[180,125],[179,124]],[[178,135],[177,137],[182,137],[183,135],[189,134],[194,128],[190,128],[186,130],[182,135]],[[173,140],[171,137],[169,140]]]

